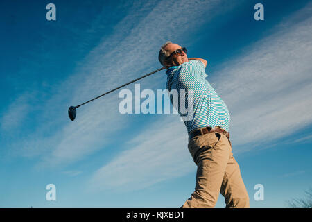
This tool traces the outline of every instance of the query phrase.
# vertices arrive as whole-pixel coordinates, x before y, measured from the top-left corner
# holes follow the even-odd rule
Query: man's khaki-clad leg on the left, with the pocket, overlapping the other
[[[198,166],[196,188],[182,208],[214,207],[231,154],[227,137],[219,133],[202,135],[191,142],[189,151]]]

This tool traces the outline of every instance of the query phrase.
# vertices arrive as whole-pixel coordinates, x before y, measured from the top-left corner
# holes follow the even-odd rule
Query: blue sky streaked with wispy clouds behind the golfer
[[[120,114],[113,92],[67,116],[159,68],[167,40],[208,60],[250,207],[287,207],[311,187],[309,1],[1,1],[0,12],[0,207],[183,205],[196,165],[177,115]],[[139,83],[165,89],[165,71]],[[51,183],[56,201],[46,200]]]

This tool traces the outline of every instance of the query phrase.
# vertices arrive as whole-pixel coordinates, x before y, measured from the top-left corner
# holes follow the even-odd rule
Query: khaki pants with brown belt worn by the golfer
[[[226,207],[249,207],[247,190],[232,145],[222,133],[207,133],[189,140],[189,152],[198,169],[196,187],[182,208],[214,207],[219,193]]]

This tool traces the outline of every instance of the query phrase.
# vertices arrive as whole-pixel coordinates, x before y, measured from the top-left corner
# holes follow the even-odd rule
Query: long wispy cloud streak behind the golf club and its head
[[[12,142],[11,150],[40,157],[40,167],[55,167],[81,160],[104,148],[114,132],[128,121],[118,112],[117,94],[78,108],[73,122],[67,117],[69,105],[83,103],[158,68],[159,46],[166,40],[182,39],[189,28],[207,22],[207,17],[201,21],[192,18],[208,12],[211,16],[223,12],[215,8],[218,3],[220,1],[161,1],[130,6],[128,15],[116,25],[114,33],[79,62],[76,73],[55,86],[53,96],[42,101],[37,110],[40,123],[33,133]],[[175,13],[172,8],[176,8]],[[173,19],[182,14],[180,19]],[[137,16],[141,16],[139,23]],[[169,20],[172,22],[168,23]],[[163,77],[155,78],[164,80]],[[148,84],[153,87],[155,81]]]

